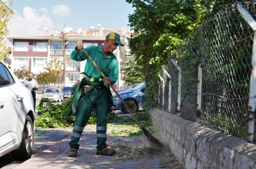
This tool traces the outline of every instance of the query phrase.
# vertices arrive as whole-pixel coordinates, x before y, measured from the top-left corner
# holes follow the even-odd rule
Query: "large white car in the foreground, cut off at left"
[[[34,147],[34,102],[20,80],[0,61],[0,156],[27,160]]]

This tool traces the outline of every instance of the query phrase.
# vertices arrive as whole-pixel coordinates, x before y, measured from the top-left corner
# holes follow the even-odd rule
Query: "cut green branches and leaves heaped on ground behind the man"
[[[40,104],[36,107],[38,116],[35,117],[35,126],[37,128],[73,127],[75,116],[72,114],[72,102],[73,98],[65,100],[62,104],[56,104],[55,101],[50,101],[49,99],[41,100]],[[150,133],[153,133],[149,113],[135,113],[135,116],[141,122],[142,126],[146,127]],[[131,116],[117,117],[114,112],[109,112],[107,114],[107,121],[109,123],[108,128],[115,127],[115,130],[110,130],[107,133],[108,135],[133,136],[144,134],[140,126],[137,125]],[[97,124],[97,116],[94,109],[87,124]]]

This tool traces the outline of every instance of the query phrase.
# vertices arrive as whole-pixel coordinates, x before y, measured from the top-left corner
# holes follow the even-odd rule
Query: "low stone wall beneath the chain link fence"
[[[186,169],[256,169],[256,145],[148,108],[162,142]]]

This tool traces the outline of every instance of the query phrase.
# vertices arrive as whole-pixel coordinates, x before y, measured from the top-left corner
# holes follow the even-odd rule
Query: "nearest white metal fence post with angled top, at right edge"
[[[243,15],[244,20],[254,30],[253,45],[252,45],[252,72],[250,78],[250,93],[248,102],[248,121],[247,121],[247,136],[246,140],[250,143],[253,142],[254,134],[254,121],[255,121],[255,107],[256,107],[256,21],[250,13],[243,7],[242,4],[236,5],[238,11]]]

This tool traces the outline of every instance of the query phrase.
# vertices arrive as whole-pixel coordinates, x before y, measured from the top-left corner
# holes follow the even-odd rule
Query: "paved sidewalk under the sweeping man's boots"
[[[180,169],[177,160],[170,151],[146,154],[143,146],[147,146],[145,136],[107,136],[107,144],[118,147],[114,156],[96,155],[96,129],[86,126],[79,141],[77,157],[68,157],[68,142],[71,135],[59,143],[49,147],[40,154],[15,167],[15,169]],[[129,148],[126,155],[121,150]],[[149,147],[147,148],[149,149]],[[137,152],[136,152],[137,151]],[[134,153],[134,156],[132,156]],[[139,154],[142,158],[137,158]],[[151,156],[152,155],[152,156]],[[144,157],[145,156],[145,157]],[[129,157],[129,158],[128,158]],[[127,158],[127,159],[126,159]]]

